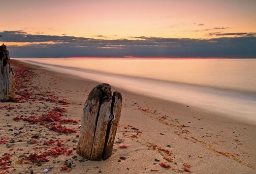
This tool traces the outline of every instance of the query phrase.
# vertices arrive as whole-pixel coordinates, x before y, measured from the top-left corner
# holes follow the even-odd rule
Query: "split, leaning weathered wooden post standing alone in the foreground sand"
[[[121,116],[122,95],[111,86],[100,84],[92,89],[83,109],[77,154],[100,161],[112,154],[118,122]]]

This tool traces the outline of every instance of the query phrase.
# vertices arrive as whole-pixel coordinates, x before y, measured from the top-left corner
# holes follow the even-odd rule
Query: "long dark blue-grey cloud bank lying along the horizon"
[[[34,35],[23,31],[2,31],[12,58],[21,57],[230,57],[256,58],[256,33],[222,33],[211,39],[137,36],[122,39]],[[29,42],[8,46],[8,42]],[[51,42],[51,43],[46,43]]]

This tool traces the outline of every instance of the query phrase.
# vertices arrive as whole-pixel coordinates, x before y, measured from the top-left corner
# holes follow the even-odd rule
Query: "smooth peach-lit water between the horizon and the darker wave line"
[[[33,58],[133,77],[256,92],[256,59]]]

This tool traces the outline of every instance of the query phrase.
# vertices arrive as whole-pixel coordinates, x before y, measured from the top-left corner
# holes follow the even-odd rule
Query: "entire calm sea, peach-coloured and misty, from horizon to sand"
[[[256,59],[19,59],[256,124]]]

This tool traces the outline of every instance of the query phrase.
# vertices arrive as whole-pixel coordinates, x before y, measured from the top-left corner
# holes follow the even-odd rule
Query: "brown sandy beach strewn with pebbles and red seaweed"
[[[194,174],[256,173],[256,125],[115,87],[112,87],[112,92],[120,91],[123,96],[122,114],[115,140],[120,139],[122,143],[114,144],[113,154],[109,159],[87,161],[73,150],[69,156],[49,155],[49,161],[42,162],[41,165],[32,163],[27,157],[55,147],[56,140],[70,150],[76,148],[77,143],[72,140],[78,140],[76,135],[79,134],[83,105],[91,89],[98,83],[51,72],[35,65],[21,64],[21,68],[32,67],[30,71],[33,75],[22,85],[19,84],[19,91],[27,89],[32,95],[30,99],[24,99],[25,103],[0,103],[0,107],[14,107],[0,109],[0,140],[6,140],[0,144],[1,160],[7,163],[0,165],[0,168],[6,168],[1,171],[17,174],[33,171],[39,174],[51,166],[49,173],[67,173],[61,171],[61,167],[65,166],[65,160],[69,160],[72,163],[69,172],[76,174],[169,174],[186,171]],[[58,100],[66,99],[69,104],[62,105],[58,100],[39,100],[53,96],[58,96]],[[49,130],[52,126],[50,124],[30,124],[22,120],[26,116],[42,116],[56,107],[67,110],[63,118],[78,120],[78,124],[64,124],[77,133],[65,135]],[[21,120],[14,121],[16,116]],[[43,145],[51,139],[54,139],[55,145]],[[128,148],[120,148],[119,145],[127,145]],[[4,159],[8,154],[11,157]],[[73,157],[74,155],[78,157]],[[120,161],[121,156],[126,156],[127,159]],[[155,161],[156,158],[160,162]],[[22,162],[30,164],[21,164]],[[166,162],[170,168],[161,167],[161,162]]]

